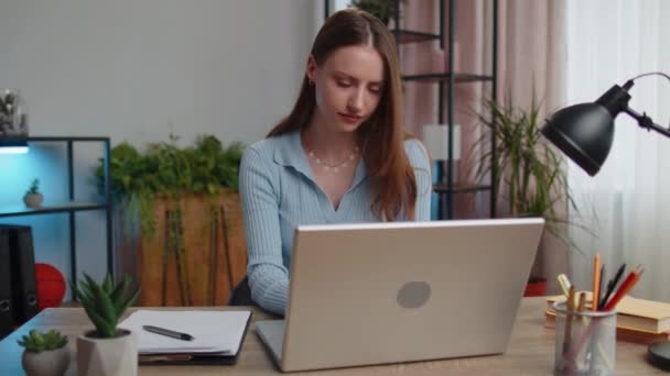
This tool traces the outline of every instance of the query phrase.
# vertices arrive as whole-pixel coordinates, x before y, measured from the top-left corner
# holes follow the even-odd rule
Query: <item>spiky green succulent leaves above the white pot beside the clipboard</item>
[[[102,284],[97,284],[84,274],[84,280],[75,287],[86,314],[96,327],[97,336],[116,336],[119,319],[140,295],[140,288],[129,294],[130,283],[130,277],[126,276],[115,286],[111,276],[107,274]]]

